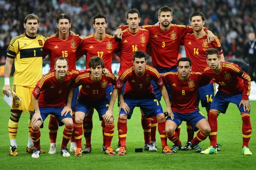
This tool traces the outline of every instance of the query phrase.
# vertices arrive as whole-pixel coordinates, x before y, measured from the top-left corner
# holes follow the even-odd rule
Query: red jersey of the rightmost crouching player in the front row
[[[220,62],[221,70],[215,73],[211,68],[204,69],[204,74],[218,83],[218,89],[232,95],[243,92],[242,99],[248,100],[250,96],[250,76],[241,68],[230,62]]]

